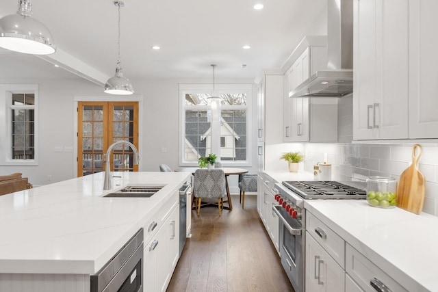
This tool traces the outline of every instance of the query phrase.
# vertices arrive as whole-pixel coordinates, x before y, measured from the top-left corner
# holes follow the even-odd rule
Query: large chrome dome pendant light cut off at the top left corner
[[[19,0],[16,14],[0,18],[0,47],[34,55],[55,53],[49,29],[31,15],[30,1]]]

